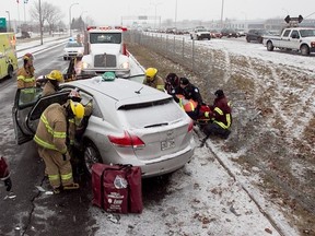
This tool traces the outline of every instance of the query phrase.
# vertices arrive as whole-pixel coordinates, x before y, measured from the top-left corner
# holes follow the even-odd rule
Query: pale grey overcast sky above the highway
[[[30,20],[28,9],[39,0],[28,0],[24,4],[24,0],[0,0],[0,16],[24,21],[24,12],[26,21]],[[44,2],[45,0],[42,0]],[[306,17],[314,13],[315,19],[315,1],[300,0],[299,3],[293,0],[50,0],[49,2],[56,7],[60,7],[63,13],[63,22],[69,23],[69,10],[71,8],[71,16],[82,17],[89,16],[98,25],[120,24],[121,16],[161,16],[161,21],[172,19],[173,21],[182,20],[201,20],[211,21],[221,19],[221,10],[223,4],[223,19],[238,20],[256,20],[268,17],[285,17],[298,16],[301,14]],[[177,4],[176,4],[177,3]],[[176,7],[177,5],[177,7]],[[24,11],[25,9],[25,11]],[[125,22],[125,21],[124,21]]]

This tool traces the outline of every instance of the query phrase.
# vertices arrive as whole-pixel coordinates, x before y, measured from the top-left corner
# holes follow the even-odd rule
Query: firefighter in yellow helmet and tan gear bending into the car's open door
[[[55,193],[59,193],[61,189],[79,188],[79,184],[73,181],[66,140],[68,119],[82,119],[83,116],[83,105],[70,99],[63,105],[49,105],[40,116],[34,141],[38,145],[39,156],[45,162],[45,172]]]

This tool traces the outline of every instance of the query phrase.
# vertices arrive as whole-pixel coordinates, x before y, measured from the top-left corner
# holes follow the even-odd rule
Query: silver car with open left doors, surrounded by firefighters
[[[18,144],[32,140],[49,104],[63,104],[78,88],[82,104],[93,103],[79,145],[88,170],[94,163],[131,164],[151,177],[183,167],[194,155],[194,122],[172,96],[139,79],[144,74],[114,81],[100,75],[60,84],[59,93],[45,97],[40,87],[32,87],[32,99],[25,99],[27,88],[18,90],[12,110]]]

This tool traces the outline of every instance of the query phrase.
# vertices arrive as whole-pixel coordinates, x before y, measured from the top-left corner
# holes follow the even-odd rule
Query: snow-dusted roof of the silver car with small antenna
[[[102,80],[102,76],[95,76],[86,80],[72,81],[66,84],[78,86],[95,96],[104,95],[110,97],[118,102],[118,107],[128,104],[162,101],[172,97],[156,88],[128,79],[104,81]]]

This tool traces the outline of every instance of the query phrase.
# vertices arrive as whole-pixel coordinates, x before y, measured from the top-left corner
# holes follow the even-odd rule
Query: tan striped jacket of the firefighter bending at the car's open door
[[[66,154],[66,109],[60,104],[51,104],[40,116],[34,141],[45,149]]]

